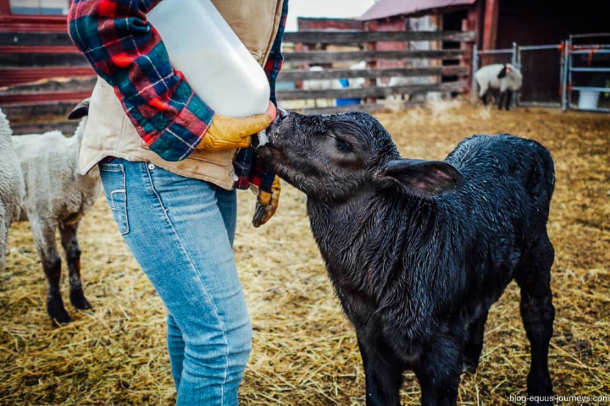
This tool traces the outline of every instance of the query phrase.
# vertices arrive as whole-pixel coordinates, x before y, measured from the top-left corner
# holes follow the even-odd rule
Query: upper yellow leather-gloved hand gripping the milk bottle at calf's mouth
[[[254,116],[236,118],[215,114],[208,132],[197,149],[221,151],[231,148],[246,148],[252,143],[252,135],[269,127],[276,119],[276,106],[269,101],[267,111]]]

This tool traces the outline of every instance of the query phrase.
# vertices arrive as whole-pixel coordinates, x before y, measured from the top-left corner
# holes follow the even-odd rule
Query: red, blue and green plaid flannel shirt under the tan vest
[[[214,111],[204,103],[179,71],[147,22],[146,13],[161,0],[74,0],[68,30],[74,45],[95,72],[114,86],[117,97],[151,151],[164,160],[187,157],[208,131]],[[278,35],[264,66],[276,102],[276,79],[282,68],[282,37],[288,0],[282,5]],[[271,192],[275,174],[257,162],[252,147],[234,159],[237,188],[251,183]]]

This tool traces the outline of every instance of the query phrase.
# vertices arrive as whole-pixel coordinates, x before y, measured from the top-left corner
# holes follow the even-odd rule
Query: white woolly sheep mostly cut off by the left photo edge
[[[21,167],[12,144],[12,129],[0,109],[0,271],[5,264],[8,229],[19,218],[24,195]]]

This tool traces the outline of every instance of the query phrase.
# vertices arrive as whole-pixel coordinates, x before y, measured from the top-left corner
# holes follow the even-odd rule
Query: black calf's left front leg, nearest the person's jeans
[[[404,368],[380,338],[358,338],[365,368],[367,406],[400,406],[400,386]]]

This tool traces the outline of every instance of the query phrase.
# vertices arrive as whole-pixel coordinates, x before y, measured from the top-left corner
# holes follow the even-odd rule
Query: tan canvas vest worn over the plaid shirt
[[[282,0],[212,0],[212,3],[263,66],[278,33]],[[100,77],[91,94],[88,116],[79,160],[82,174],[104,157],[114,156],[152,162],[178,175],[204,179],[228,190],[233,188],[235,149],[213,153],[195,150],[181,161],[163,160],[138,136],[112,86]]]

